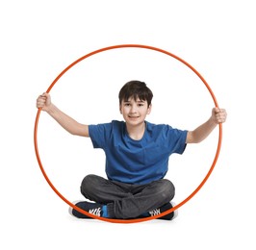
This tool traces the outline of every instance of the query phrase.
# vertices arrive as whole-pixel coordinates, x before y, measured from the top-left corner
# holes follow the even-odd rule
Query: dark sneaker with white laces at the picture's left
[[[74,204],[79,209],[82,209],[90,214],[93,214],[93,215],[96,215],[99,217],[102,216],[103,205],[101,205],[101,204],[91,203],[91,202],[87,202],[87,201],[75,201]],[[69,207],[68,212],[77,218],[92,218],[84,213],[80,213],[80,212],[76,211],[72,207]]]

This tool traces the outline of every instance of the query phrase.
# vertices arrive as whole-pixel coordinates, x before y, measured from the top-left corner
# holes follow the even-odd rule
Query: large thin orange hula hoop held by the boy
[[[148,46],[148,45],[141,45],[141,44],[120,44],[120,45],[114,45],[114,46],[109,46],[109,47],[105,47],[99,50],[95,50],[93,52],[90,52],[89,54],[81,57],[80,59],[78,59],[77,61],[75,61],[74,63],[69,64],[58,76],[57,78],[53,81],[53,83],[50,85],[50,87],[48,87],[48,89],[46,90],[47,93],[50,92],[50,90],[52,89],[52,87],[54,87],[54,85],[58,82],[58,80],[64,75],[64,73],[70,69],[72,66],[74,66],[75,64],[89,58],[90,56],[93,56],[95,54],[98,54],[100,52],[103,51],[107,51],[107,50],[112,50],[112,49],[118,49],[118,48],[142,48],[142,49],[149,49],[149,50],[155,50],[161,53],[166,54],[167,56],[170,56],[178,61],[180,61],[181,63],[184,63],[186,66],[188,66],[189,68],[192,69],[192,71],[201,79],[201,81],[203,82],[203,84],[207,87],[208,91],[210,92],[213,101],[215,103],[215,106],[218,108],[218,102],[217,99],[215,97],[215,94],[213,92],[213,90],[211,89],[211,87],[207,84],[207,82],[204,80],[204,78],[199,74],[198,71],[196,71],[191,64],[185,62],[184,60],[182,60],[181,58],[173,55],[172,53],[169,53],[163,49],[159,49],[156,47],[152,47],[152,46]],[[76,207],[74,204],[72,204],[71,202],[69,202],[62,193],[60,193],[57,188],[54,187],[54,185],[51,183],[51,181],[49,180],[47,174],[45,173],[42,163],[40,161],[40,157],[39,157],[39,153],[38,153],[38,120],[39,120],[39,114],[40,114],[41,109],[38,109],[38,113],[36,116],[36,121],[35,121],[35,129],[34,129],[34,145],[35,145],[35,151],[36,151],[36,156],[37,156],[37,160],[38,160],[38,165],[40,167],[40,170],[45,178],[45,180],[47,181],[47,183],[49,184],[49,186],[56,192],[56,194],[64,200],[64,202],[66,204],[68,204],[70,207],[72,207],[73,209],[75,209],[76,211],[80,212],[80,213],[84,213],[88,216],[90,216],[91,218],[95,218],[95,219],[99,219],[99,220],[103,220],[103,221],[107,221],[107,222],[114,222],[114,223],[135,223],[135,222],[142,222],[142,221],[147,221],[147,220],[151,220],[151,219],[155,219],[161,216],[164,216],[168,213],[174,212],[175,210],[177,210],[178,208],[180,208],[181,206],[183,206],[186,202],[188,202],[190,199],[192,199],[192,197],[199,191],[200,188],[202,188],[204,186],[204,184],[206,183],[206,181],[208,180],[208,178],[210,177],[211,173],[214,170],[214,167],[218,161],[218,155],[220,152],[220,147],[221,147],[221,140],[222,140],[222,125],[221,123],[218,124],[218,147],[217,147],[217,151],[216,151],[216,156],[214,158],[214,161],[208,171],[208,173],[206,174],[205,178],[203,179],[203,181],[199,184],[199,186],[197,188],[195,188],[191,195],[189,195],[186,199],[184,199],[182,202],[180,202],[178,205],[176,205],[175,207],[167,210],[164,213],[160,213],[154,216],[150,216],[150,217],[145,217],[145,218],[134,218],[134,219],[111,219],[111,218],[105,218],[105,217],[99,217],[96,216],[94,214],[90,214],[78,207]]]

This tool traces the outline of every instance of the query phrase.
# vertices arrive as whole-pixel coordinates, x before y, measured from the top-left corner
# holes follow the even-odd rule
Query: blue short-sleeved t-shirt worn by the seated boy
[[[182,154],[187,131],[145,121],[140,140],[129,137],[124,121],[89,126],[94,148],[106,155],[106,174],[110,180],[128,184],[147,184],[163,179],[172,153]]]

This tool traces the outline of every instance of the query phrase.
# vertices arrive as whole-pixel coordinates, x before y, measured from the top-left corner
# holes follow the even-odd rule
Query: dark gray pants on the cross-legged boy
[[[173,184],[162,179],[146,185],[131,185],[88,175],[81,184],[82,194],[96,203],[107,205],[111,218],[135,218],[158,209],[174,197]]]

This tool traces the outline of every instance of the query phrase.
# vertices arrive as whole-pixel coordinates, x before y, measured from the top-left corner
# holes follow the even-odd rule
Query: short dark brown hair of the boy
[[[151,105],[153,98],[152,91],[146,87],[146,84],[141,81],[130,81],[126,83],[119,91],[119,105],[122,101],[128,101],[129,98],[136,100],[146,101],[148,107]]]

